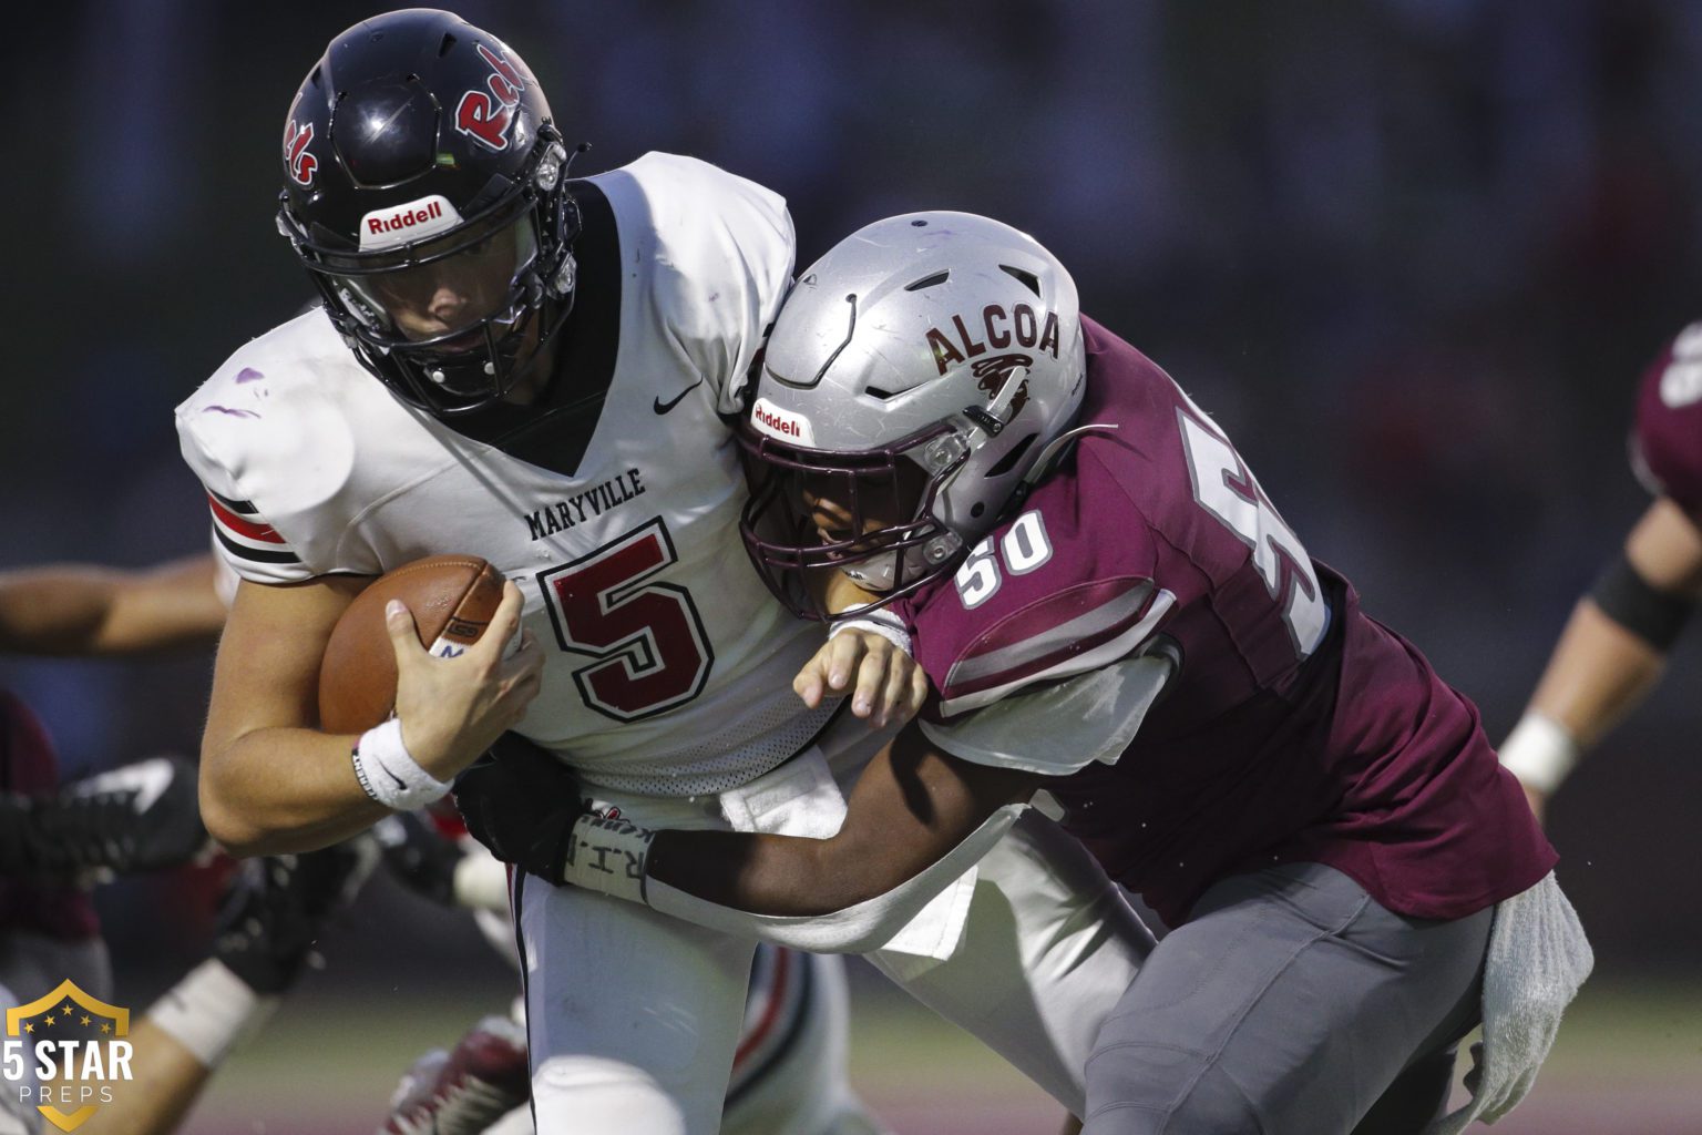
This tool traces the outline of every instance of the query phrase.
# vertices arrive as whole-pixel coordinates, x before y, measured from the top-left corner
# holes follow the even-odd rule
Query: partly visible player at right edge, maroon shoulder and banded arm
[[[1539,817],[1586,749],[1637,708],[1702,599],[1702,323],[1637,391],[1631,465],[1654,500],[1554,645],[1501,745]]]

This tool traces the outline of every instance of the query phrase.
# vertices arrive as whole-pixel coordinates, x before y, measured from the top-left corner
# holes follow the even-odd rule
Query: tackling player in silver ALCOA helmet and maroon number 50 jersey
[[[962,213],[870,225],[803,274],[756,393],[752,560],[800,614],[824,573],[878,594],[922,718],[825,841],[548,812],[565,790],[502,762],[458,786],[475,836],[551,881],[856,950],[1045,788],[1173,927],[1098,1036],[1089,1135],[1418,1135],[1479,1021],[1450,1130],[1523,1096],[1590,951],[1516,781],[1055,257]]]

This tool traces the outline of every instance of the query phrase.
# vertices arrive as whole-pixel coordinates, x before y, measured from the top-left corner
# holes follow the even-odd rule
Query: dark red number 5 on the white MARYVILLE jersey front
[[[562,650],[596,659],[574,670],[585,704],[637,721],[703,693],[715,652],[691,592],[645,580],[679,560],[662,517],[587,556],[538,572]]]

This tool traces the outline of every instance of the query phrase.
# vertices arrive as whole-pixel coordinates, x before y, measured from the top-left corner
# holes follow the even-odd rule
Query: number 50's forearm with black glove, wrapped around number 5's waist
[[[892,938],[1014,822],[1038,778],[941,752],[912,723],[863,771],[829,839],[652,832],[584,813],[572,774],[507,750],[456,783],[468,830],[529,875],[815,953]]]

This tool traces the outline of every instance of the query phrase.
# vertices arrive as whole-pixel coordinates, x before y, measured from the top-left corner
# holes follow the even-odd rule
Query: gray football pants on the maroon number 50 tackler
[[[1224,880],[1101,1028],[1082,1135],[1423,1130],[1479,1019],[1491,917],[1402,917],[1316,863]]]

